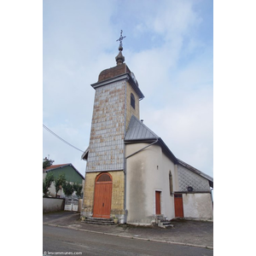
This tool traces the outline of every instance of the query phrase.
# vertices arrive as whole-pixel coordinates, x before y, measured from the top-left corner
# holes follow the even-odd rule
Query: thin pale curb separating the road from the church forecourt
[[[177,244],[181,246],[188,246],[188,247],[201,247],[201,248],[207,248],[213,250],[213,247],[209,246],[202,246],[198,244],[191,244],[191,243],[184,243],[184,242],[179,242],[179,241],[163,241],[163,240],[155,240],[155,239],[148,239],[148,238],[142,238],[142,237],[137,237],[137,236],[124,236],[124,235],[116,235],[113,233],[105,233],[101,231],[94,231],[94,230],[82,230],[74,227],[69,227],[69,226],[62,226],[58,224],[50,224],[50,223],[43,223],[44,225],[49,225],[57,228],[66,228],[69,230],[80,230],[88,233],[95,233],[95,234],[102,234],[102,235],[108,235],[108,236],[119,236],[119,237],[124,237],[124,238],[130,238],[130,239],[137,239],[137,240],[143,240],[143,241],[156,241],[156,242],[165,242],[165,243],[170,243],[170,244]]]

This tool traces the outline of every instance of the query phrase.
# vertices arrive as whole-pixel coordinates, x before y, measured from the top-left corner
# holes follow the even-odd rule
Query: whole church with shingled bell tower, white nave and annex
[[[154,224],[166,219],[213,219],[213,178],[177,159],[143,124],[143,92],[122,55],[95,84],[87,161],[84,218],[118,218],[119,223]]]

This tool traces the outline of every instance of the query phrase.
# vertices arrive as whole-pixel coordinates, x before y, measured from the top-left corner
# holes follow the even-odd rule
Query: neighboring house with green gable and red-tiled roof
[[[67,182],[78,183],[83,186],[83,190],[84,190],[84,177],[72,164],[52,165],[43,169],[43,180],[47,172],[52,172],[54,177],[58,177],[61,174],[65,174]],[[49,188],[49,195],[55,197],[55,194],[56,194],[55,185],[54,183],[52,183]],[[57,197],[61,197],[61,198],[65,197],[63,189],[59,189],[57,193]]]

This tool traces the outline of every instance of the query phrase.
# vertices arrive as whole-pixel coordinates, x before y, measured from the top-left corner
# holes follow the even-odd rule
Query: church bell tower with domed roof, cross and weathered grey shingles
[[[125,218],[125,131],[131,116],[139,119],[143,93],[122,55],[122,32],[116,66],[103,70],[91,86],[96,90],[91,121],[82,215]]]

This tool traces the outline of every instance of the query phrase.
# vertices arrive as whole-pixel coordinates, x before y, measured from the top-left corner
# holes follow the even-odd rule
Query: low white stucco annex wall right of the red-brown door
[[[183,214],[184,218],[213,219],[211,194],[183,194]]]

